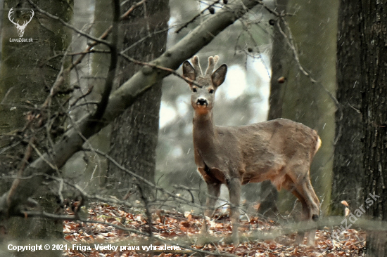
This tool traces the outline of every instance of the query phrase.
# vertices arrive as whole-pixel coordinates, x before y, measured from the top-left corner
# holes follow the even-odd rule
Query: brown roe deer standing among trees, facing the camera
[[[215,91],[223,83],[227,65],[215,72],[218,57],[208,58],[205,74],[198,56],[183,63],[184,77],[192,91],[194,107],[194,154],[198,171],[208,187],[205,216],[212,210],[220,194],[220,185],[229,190],[232,241],[239,244],[239,200],[241,185],[271,180],[280,190],[293,193],[303,206],[303,220],[317,220],[319,199],[310,183],[310,163],[321,145],[317,132],[288,119],[274,119],[246,126],[215,126],[212,119]],[[206,233],[205,220],[202,233]],[[302,243],[303,233],[297,242]],[[315,244],[315,232],[310,232],[308,244]]]

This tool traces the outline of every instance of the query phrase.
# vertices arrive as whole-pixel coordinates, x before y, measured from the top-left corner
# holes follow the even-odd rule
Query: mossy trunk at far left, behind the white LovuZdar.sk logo
[[[67,2],[53,4],[52,1],[34,1],[40,8],[49,13],[59,15],[63,20],[70,20],[72,17],[72,6]],[[20,37],[15,26],[8,20],[8,11],[13,8],[11,16],[14,21],[20,19],[29,20],[31,11],[27,1],[6,0],[4,4],[6,12],[3,15],[2,24],[2,63],[0,80],[0,133],[2,134],[0,146],[12,145],[19,140],[18,131],[21,131],[27,124],[26,113],[46,114],[45,110],[38,110],[34,106],[41,106],[48,95],[50,86],[56,80],[58,70],[61,67],[61,58],[51,58],[54,52],[65,51],[71,39],[67,29],[64,29],[60,22],[43,17],[37,10],[30,23],[25,27],[23,37]],[[20,11],[20,8],[27,8],[27,11]],[[16,43],[10,39],[33,39],[32,42]],[[68,84],[65,84],[67,86]],[[28,129],[24,133],[30,133]],[[14,136],[14,138],[12,138]],[[44,135],[34,131],[37,140],[34,144],[42,150],[45,146],[40,141]],[[52,135],[51,135],[52,136]],[[11,147],[11,152],[5,152],[0,159],[0,169],[6,171],[6,175],[14,175],[16,171],[23,171],[20,158],[25,157],[25,146]],[[12,155],[11,159],[6,159]],[[20,154],[18,156],[18,154]],[[32,151],[28,162],[38,158]],[[3,169],[5,168],[5,169]],[[1,193],[9,188],[9,185],[0,181]],[[47,188],[42,188],[38,199],[39,207],[49,213],[56,209],[56,196]],[[44,239],[46,242],[51,239],[63,238],[63,225],[51,219],[44,218],[10,218],[4,227],[7,235],[1,239],[18,240],[19,245],[28,245],[27,240]],[[3,231],[4,232],[4,231]],[[15,256],[61,256],[61,251],[24,251],[15,253]]]

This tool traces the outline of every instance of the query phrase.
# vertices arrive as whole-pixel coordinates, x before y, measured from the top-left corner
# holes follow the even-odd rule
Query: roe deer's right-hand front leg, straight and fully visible
[[[239,244],[239,202],[241,200],[241,180],[239,178],[230,178],[226,180],[227,187],[229,188],[230,197],[230,218],[232,224],[232,242],[236,247]]]

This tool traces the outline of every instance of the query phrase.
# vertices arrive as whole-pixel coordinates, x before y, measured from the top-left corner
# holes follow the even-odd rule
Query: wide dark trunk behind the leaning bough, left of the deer
[[[128,1],[131,6],[137,1]],[[148,62],[158,57],[167,42],[167,22],[170,17],[168,1],[147,1],[129,15],[123,22],[123,49],[130,57]],[[139,67],[122,60],[119,74],[120,84],[127,81]],[[158,142],[158,118],[161,100],[161,81],[152,86],[135,103],[120,115],[112,126],[110,156],[127,169],[154,183],[156,169],[156,145]],[[141,187],[141,192],[149,196],[151,188],[132,180],[114,164],[109,164],[109,186],[115,195],[122,197]]]

